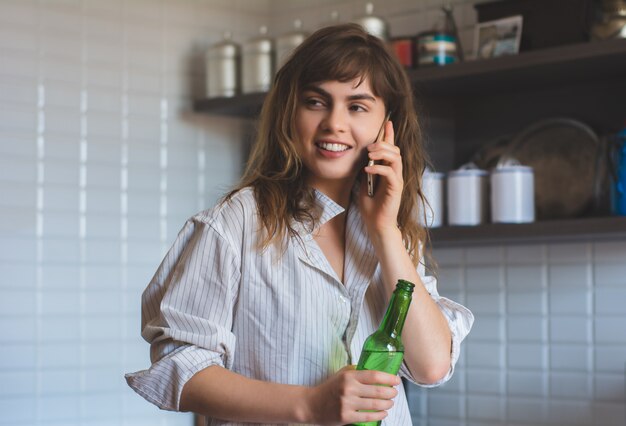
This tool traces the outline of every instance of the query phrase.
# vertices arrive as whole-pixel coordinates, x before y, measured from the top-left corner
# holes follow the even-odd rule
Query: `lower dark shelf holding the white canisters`
[[[523,224],[446,226],[430,230],[435,248],[626,239],[626,217],[594,217]]]

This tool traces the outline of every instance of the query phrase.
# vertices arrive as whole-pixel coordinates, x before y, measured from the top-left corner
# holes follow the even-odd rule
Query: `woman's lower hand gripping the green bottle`
[[[307,398],[310,422],[345,425],[382,420],[398,395],[394,386],[400,383],[398,376],[382,371],[356,370],[354,365],[344,367],[310,388]]]

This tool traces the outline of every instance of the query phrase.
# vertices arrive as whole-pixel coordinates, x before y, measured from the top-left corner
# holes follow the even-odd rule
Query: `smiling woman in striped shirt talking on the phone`
[[[471,327],[420,263],[424,163],[382,42],[356,25],[310,36],[275,77],[242,182],[186,223],[145,290],[153,364],[129,385],[211,425],[411,424],[400,379],[351,364],[399,278],[416,284],[402,376],[448,380]]]

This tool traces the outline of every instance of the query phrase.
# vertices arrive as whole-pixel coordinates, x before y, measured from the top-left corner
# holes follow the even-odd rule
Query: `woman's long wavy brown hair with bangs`
[[[356,24],[322,28],[309,36],[278,70],[263,104],[256,143],[245,173],[225,197],[252,187],[265,236],[261,247],[298,237],[294,221],[313,229],[318,219],[314,191],[306,185],[296,145],[295,117],[303,89],[324,81],[367,78],[374,95],[391,111],[395,141],[402,154],[404,189],[398,227],[415,265],[428,233],[418,223],[424,203],[421,176],[427,157],[413,104],[413,91],[402,66],[378,38]],[[426,205],[426,204],[422,204]]]

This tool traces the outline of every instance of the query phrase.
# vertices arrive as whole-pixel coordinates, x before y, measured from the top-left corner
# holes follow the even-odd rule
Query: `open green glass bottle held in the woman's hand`
[[[414,288],[413,283],[398,280],[380,327],[365,339],[363,351],[356,367],[357,370],[378,370],[389,374],[398,374],[404,358],[404,345],[400,334],[409,312]],[[354,423],[354,426],[380,424],[381,422],[378,421]]]

